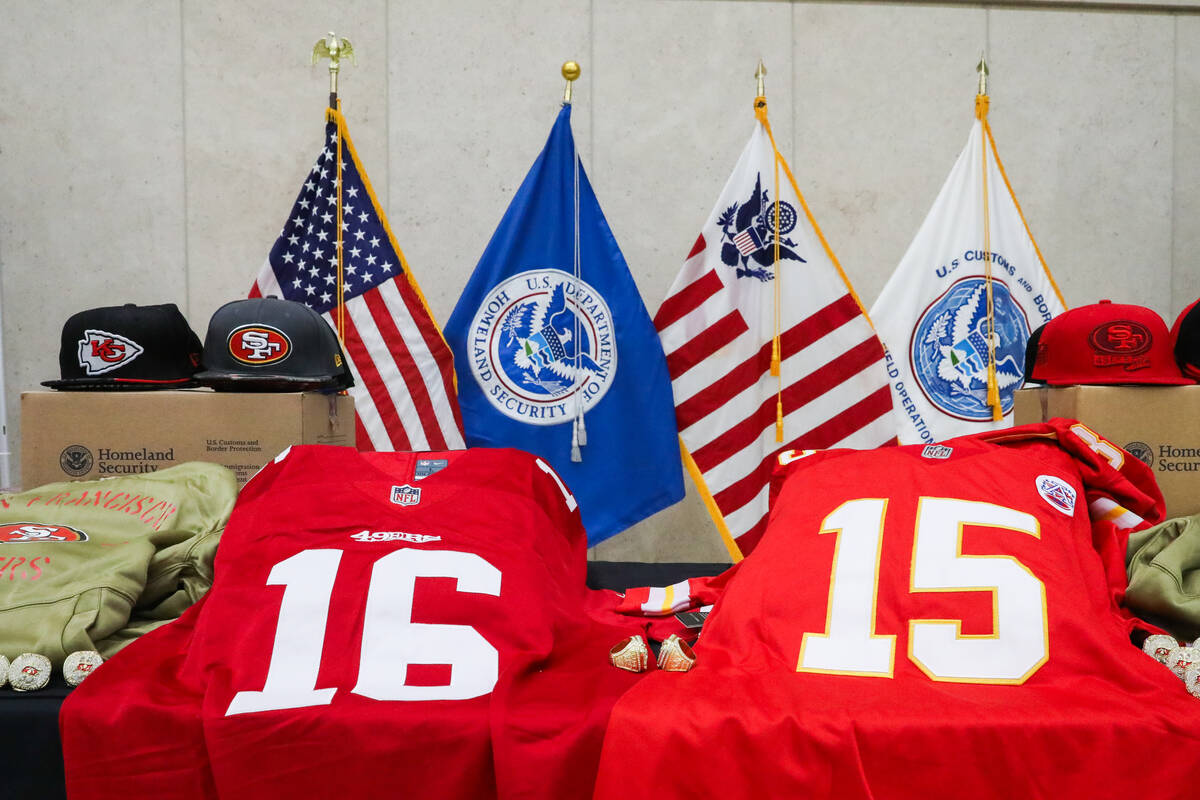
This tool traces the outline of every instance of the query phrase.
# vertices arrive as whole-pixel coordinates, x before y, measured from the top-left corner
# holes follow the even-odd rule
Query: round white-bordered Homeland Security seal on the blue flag
[[[497,284],[470,324],[470,371],[502,414],[530,425],[588,411],[617,374],[612,313],[570,272],[528,270]]]

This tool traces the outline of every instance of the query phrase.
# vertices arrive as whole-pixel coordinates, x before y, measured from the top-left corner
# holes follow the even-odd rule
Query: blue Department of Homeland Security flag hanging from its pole
[[[662,345],[578,163],[570,106],[444,332],[467,444],[546,459],[589,545],[683,499]]]

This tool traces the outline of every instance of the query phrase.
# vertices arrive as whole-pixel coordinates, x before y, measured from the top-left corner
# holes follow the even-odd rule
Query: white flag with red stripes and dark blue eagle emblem
[[[654,318],[685,461],[734,560],[779,451],[894,441],[883,348],[775,148],[767,101]]]

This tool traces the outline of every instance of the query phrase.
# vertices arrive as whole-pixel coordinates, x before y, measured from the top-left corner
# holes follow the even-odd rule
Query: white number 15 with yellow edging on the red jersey
[[[824,518],[835,534],[824,633],[805,633],[797,672],[892,678],[895,636],[875,632],[888,501],[844,503]],[[908,658],[936,681],[1022,684],[1050,654],[1045,584],[1012,555],[964,555],[966,525],[1040,539],[1033,515],[991,503],[923,497],[913,530],[910,591],[989,591],[992,633],[965,634],[955,619],[908,621]]]

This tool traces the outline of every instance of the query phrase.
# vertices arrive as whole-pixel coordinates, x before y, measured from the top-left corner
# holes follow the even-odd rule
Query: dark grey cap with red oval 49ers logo
[[[354,385],[334,329],[302,302],[235,300],[217,308],[196,378],[220,391],[340,391]]]

